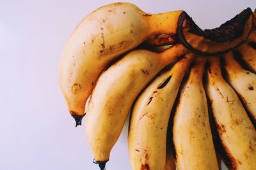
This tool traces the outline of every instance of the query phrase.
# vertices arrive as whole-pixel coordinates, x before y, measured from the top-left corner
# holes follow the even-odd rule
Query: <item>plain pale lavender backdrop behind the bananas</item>
[[[0,0],[0,169],[93,170],[84,127],[75,128],[58,85],[63,46],[80,20],[116,1]],[[223,24],[255,0],[129,1],[148,13],[185,10],[202,29]],[[107,169],[131,169],[127,124]]]

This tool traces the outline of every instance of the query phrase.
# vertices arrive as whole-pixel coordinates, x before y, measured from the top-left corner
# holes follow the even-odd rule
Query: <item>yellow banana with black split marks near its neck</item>
[[[175,66],[157,75],[136,99],[128,137],[132,169],[164,169],[169,117],[191,59],[191,55],[186,55]],[[168,163],[174,164],[174,158],[168,156]]]

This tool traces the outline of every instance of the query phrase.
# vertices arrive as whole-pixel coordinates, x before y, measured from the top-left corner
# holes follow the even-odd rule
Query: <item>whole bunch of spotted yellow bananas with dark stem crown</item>
[[[211,30],[113,3],[67,41],[60,87],[104,169],[127,115],[132,169],[256,168],[256,13]],[[90,97],[90,98],[89,98]],[[86,101],[86,114],[84,113]]]

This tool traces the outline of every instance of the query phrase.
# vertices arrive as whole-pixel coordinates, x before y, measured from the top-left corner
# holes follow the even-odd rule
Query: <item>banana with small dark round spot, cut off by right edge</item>
[[[239,62],[234,59],[232,52],[225,55],[224,66],[228,83],[237,92],[256,123],[256,74],[243,69],[243,67],[239,65]]]

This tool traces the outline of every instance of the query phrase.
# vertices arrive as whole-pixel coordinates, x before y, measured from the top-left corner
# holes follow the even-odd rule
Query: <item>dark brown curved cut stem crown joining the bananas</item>
[[[253,27],[254,18],[250,8],[220,27],[204,31],[184,12],[180,14],[177,34],[179,41],[192,52],[202,56],[216,56],[246,42]]]

